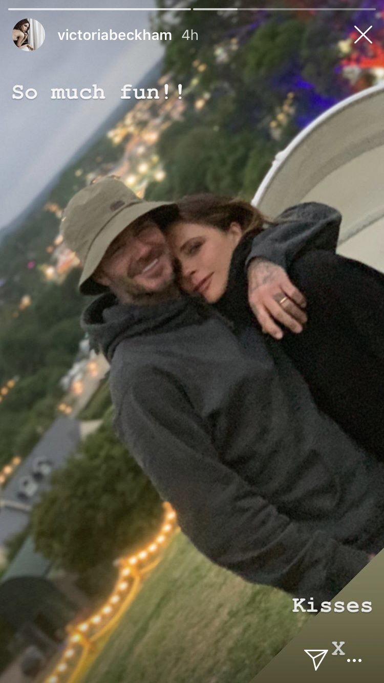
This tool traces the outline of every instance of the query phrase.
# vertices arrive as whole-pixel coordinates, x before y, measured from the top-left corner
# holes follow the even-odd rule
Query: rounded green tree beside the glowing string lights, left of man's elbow
[[[113,434],[110,419],[55,471],[31,514],[36,548],[86,572],[148,542],[159,528],[159,495]]]

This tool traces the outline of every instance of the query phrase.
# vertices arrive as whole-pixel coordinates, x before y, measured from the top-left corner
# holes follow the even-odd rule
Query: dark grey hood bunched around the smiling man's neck
[[[102,294],[81,315],[81,327],[90,336],[92,348],[102,351],[111,363],[116,347],[123,339],[156,332],[170,332],[182,326],[202,322],[212,316],[200,298],[180,296],[156,305],[120,303],[115,294]]]

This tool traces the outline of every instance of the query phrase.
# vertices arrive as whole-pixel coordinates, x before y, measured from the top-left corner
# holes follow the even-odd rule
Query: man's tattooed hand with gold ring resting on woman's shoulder
[[[303,310],[305,296],[290,281],[286,271],[271,261],[255,258],[248,268],[248,301],[262,331],[282,339],[280,322],[294,333],[300,333],[307,322]]]

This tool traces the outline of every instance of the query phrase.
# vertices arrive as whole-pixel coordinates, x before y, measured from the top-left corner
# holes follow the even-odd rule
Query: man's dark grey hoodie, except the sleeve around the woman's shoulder
[[[382,467],[264,335],[255,354],[241,329],[251,358],[187,297],[134,307],[105,294],[82,325],[111,363],[118,436],[212,561],[321,601],[383,547]]]

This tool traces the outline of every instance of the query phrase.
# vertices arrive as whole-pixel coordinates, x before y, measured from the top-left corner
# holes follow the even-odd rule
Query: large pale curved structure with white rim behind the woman
[[[302,201],[342,212],[338,252],[384,270],[384,85],[340,102],[277,154],[252,204],[275,217]]]

